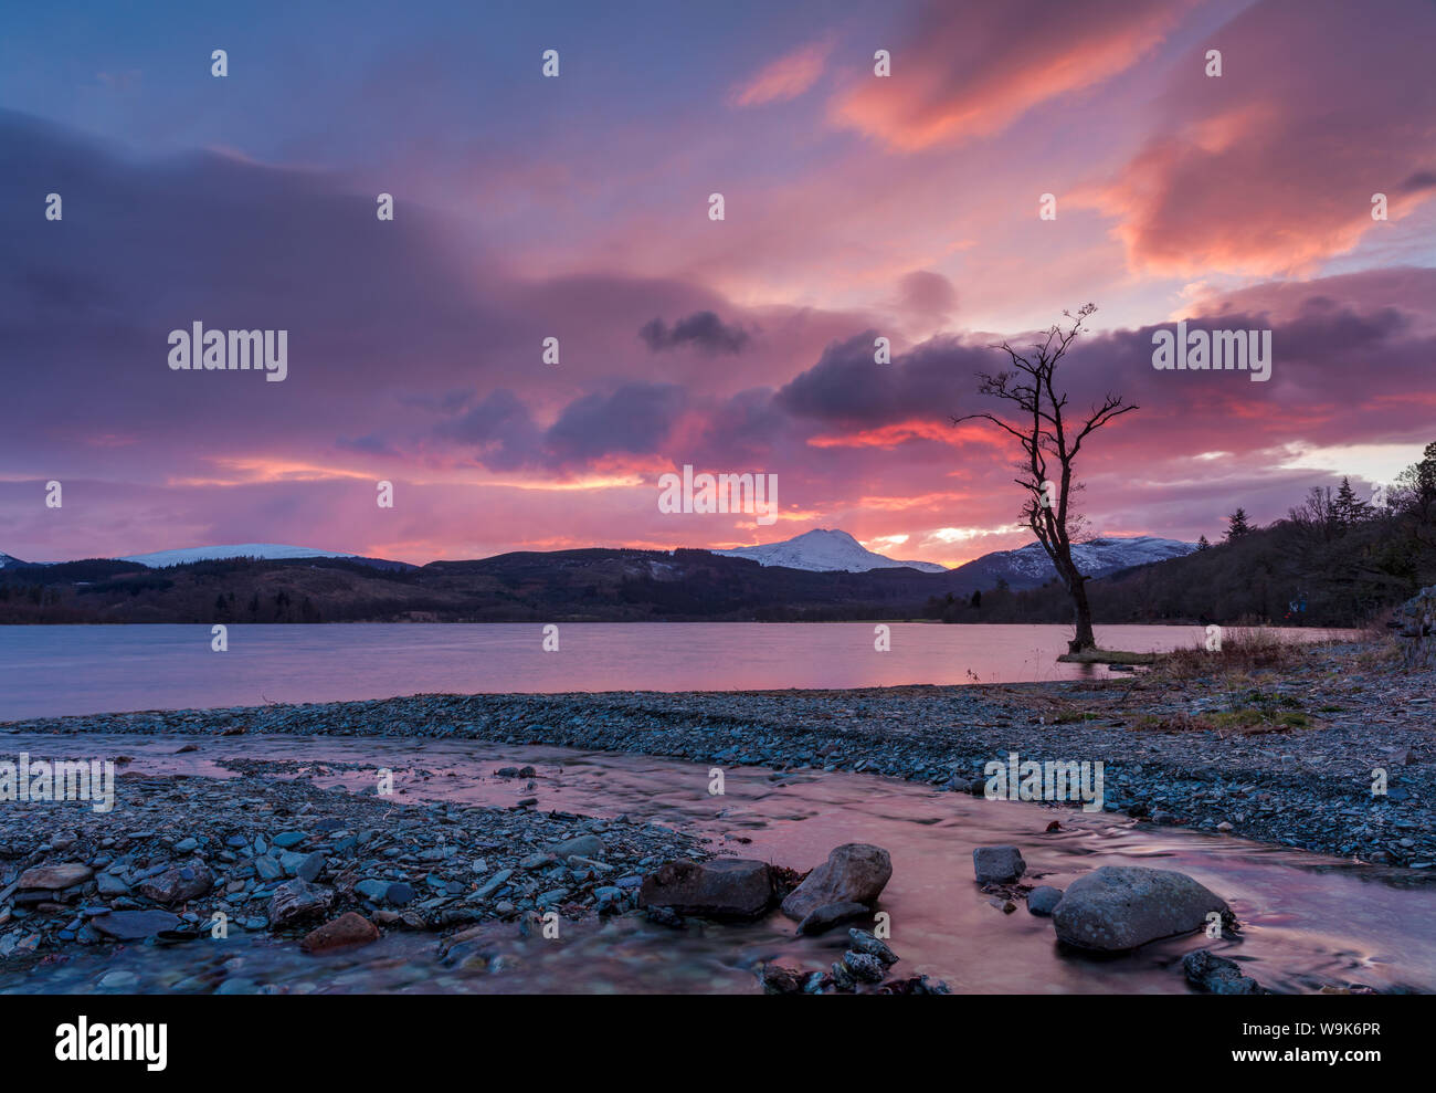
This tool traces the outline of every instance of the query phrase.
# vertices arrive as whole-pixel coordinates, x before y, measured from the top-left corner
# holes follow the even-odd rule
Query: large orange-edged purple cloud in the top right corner
[[[1433,40],[1432,4],[1262,0],[1179,59],[1157,132],[1093,201],[1139,270],[1307,273],[1430,198]]]

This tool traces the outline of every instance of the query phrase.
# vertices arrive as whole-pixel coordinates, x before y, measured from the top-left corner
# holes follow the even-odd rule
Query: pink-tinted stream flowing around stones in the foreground
[[[1107,813],[987,801],[864,774],[758,768],[727,771],[725,794],[708,794],[705,766],[556,747],[482,741],[240,737],[202,753],[174,754],[185,738],[86,737],[88,754],[128,754],[131,771],[227,777],[224,757],[296,760],[319,786],[358,790],[372,773],[327,771],[325,763],[391,767],[409,800],[628,814],[709,836],[741,857],[808,869],[846,842],[892,855],[880,909],[892,918],[895,975],[928,974],[972,992],[1183,992],[1180,957],[1199,947],[1238,959],[1275,991],[1369,984],[1436,991],[1436,883],[1300,850],[1153,827]],[[59,755],[56,737],[7,737],[10,750]],[[495,778],[501,766],[533,764],[534,790]],[[428,771],[429,776],[418,771]],[[1047,824],[1060,819],[1061,830]],[[745,840],[745,842],[740,842]],[[1178,869],[1223,896],[1242,921],[1239,942],[1186,936],[1136,954],[1091,957],[1061,949],[1050,919],[1018,903],[994,906],[972,880],[972,849],[1015,843],[1027,880],[1066,886],[1101,865]],[[488,969],[444,967],[432,935],[391,932],[348,952],[306,957],[293,941],[246,935],[169,948],[86,952],[29,972],[0,969],[0,991],[286,992],[751,992],[767,959],[804,969],[841,955],[846,932],[793,936],[778,913],[752,925],[689,924],[669,931],[642,919],[564,924],[563,936],[518,936],[514,924],[487,928]],[[103,980],[103,981],[102,981]]]

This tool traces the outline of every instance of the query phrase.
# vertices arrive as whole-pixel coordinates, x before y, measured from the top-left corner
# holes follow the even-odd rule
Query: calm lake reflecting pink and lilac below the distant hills
[[[1288,632],[1320,638],[1330,632]],[[125,710],[333,702],[411,694],[744,691],[1028,682],[1106,674],[1057,664],[1066,626],[538,623],[0,626],[0,721]],[[1104,648],[1200,643],[1196,626],[1100,626]]]

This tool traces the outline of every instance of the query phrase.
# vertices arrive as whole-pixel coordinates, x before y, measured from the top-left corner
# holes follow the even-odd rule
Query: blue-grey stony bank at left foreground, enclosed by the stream
[[[541,929],[550,915],[632,911],[645,873],[708,856],[623,817],[399,804],[253,776],[121,780],[112,813],[0,811],[0,958],[246,932],[322,952],[381,929]]]

